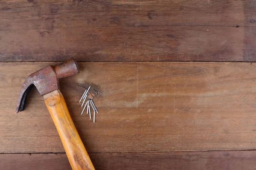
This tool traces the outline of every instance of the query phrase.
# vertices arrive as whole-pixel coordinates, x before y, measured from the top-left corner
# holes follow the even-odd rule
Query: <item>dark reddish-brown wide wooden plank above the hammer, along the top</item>
[[[255,4],[2,0],[0,61],[255,62]]]

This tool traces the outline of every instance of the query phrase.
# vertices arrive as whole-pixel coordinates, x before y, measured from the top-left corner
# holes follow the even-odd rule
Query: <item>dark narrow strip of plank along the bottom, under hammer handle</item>
[[[254,170],[256,151],[90,153],[97,170]],[[65,153],[0,154],[3,170],[71,170]]]

